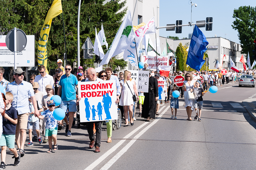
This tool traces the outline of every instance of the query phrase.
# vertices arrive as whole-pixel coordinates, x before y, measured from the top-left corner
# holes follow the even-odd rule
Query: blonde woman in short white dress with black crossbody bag
[[[124,72],[124,80],[120,81],[121,85],[121,97],[120,97],[120,106],[123,106],[124,108],[124,117],[125,117],[125,125],[124,127],[128,126],[128,110],[129,110],[129,116],[131,125],[133,126],[133,98],[132,96],[136,94],[137,100],[139,100],[139,94],[136,88],[136,83],[131,79],[131,72],[125,71]],[[129,89],[129,87],[130,89]]]

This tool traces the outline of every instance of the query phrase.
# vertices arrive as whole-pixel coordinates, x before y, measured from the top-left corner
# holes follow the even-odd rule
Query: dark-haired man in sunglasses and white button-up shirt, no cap
[[[53,76],[48,75],[45,72],[45,67],[44,65],[39,66],[38,68],[40,75],[37,75],[35,77],[34,82],[38,82],[39,84],[39,88],[38,90],[43,92],[44,95],[47,95],[46,91],[45,91],[45,86],[46,85],[51,85],[53,88],[52,94],[54,95],[54,80],[53,80]]]

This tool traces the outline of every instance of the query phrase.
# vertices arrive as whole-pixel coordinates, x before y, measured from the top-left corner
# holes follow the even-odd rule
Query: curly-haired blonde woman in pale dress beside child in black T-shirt
[[[183,82],[182,90],[184,91],[185,108],[187,111],[187,120],[191,119],[192,111],[194,110],[194,99],[188,99],[188,92],[193,91],[195,87],[195,80],[193,80],[192,72],[186,72],[184,76],[185,81]]]

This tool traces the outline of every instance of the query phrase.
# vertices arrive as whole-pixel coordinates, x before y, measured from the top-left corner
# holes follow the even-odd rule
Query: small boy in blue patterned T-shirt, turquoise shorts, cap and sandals
[[[58,122],[53,117],[53,111],[55,108],[55,102],[53,100],[47,101],[48,110],[45,110],[41,116],[38,116],[39,119],[44,119],[46,117],[46,127],[45,127],[45,136],[48,136],[49,150],[47,153],[52,153],[53,151],[58,150],[57,144],[57,132],[58,132]],[[52,142],[53,140],[53,142]],[[54,145],[53,145],[54,143]]]

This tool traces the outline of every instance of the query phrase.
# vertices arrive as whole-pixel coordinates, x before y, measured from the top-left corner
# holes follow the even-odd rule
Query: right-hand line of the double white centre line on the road
[[[163,114],[168,110],[167,107],[162,114],[158,116],[159,119],[154,120],[151,124],[149,124],[147,127],[145,127],[143,130],[141,130],[136,136],[133,137],[133,140],[131,140],[123,149],[121,149],[113,158],[111,158],[100,170],[107,170],[109,169],[132,145],[136,142],[136,139],[138,139],[141,135],[143,135],[150,127],[152,127],[154,124],[156,124]]]

